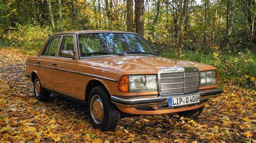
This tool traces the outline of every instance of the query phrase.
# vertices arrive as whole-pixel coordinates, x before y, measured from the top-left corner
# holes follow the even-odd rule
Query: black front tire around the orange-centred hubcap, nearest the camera
[[[102,102],[102,104],[99,104],[99,101]],[[100,113],[95,113],[95,115],[97,116],[102,115],[99,116],[99,120],[96,119],[96,117],[93,115],[93,108],[91,110],[91,107],[93,106],[95,108],[94,111],[98,112],[96,108],[99,106],[96,106],[96,104],[101,105],[101,109],[98,109],[99,111],[102,111],[103,106],[103,112],[100,112],[103,113],[103,115]],[[98,86],[91,90],[88,99],[88,109],[90,115],[89,117],[94,128],[99,128],[102,131],[113,131],[116,129],[117,124],[120,120],[120,112],[118,111],[116,105],[111,103],[109,92],[107,92],[104,87]]]

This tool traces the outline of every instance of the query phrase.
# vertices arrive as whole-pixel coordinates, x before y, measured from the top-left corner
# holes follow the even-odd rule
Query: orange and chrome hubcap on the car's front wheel
[[[93,95],[90,102],[90,113],[95,124],[99,125],[103,121],[104,108],[102,99],[98,95]]]

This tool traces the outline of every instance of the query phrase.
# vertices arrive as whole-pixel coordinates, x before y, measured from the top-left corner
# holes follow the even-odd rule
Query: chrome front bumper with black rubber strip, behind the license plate
[[[199,90],[197,93],[186,94],[186,95],[175,95],[175,96],[151,96],[151,97],[122,97],[122,96],[111,96],[111,102],[122,106],[123,108],[131,108],[131,107],[143,107],[143,106],[162,106],[168,104],[168,99],[172,97],[182,97],[182,96],[191,96],[191,95],[200,95],[200,101],[205,101],[206,99],[210,99],[218,96],[223,93],[222,89],[213,88],[213,89],[205,89]]]

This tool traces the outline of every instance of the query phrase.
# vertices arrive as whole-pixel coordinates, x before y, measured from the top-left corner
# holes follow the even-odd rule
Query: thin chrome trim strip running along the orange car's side
[[[70,73],[76,73],[76,74],[82,74],[82,75],[87,75],[87,76],[93,76],[93,77],[102,78],[102,79],[104,79],[104,80],[109,80],[109,81],[113,81],[113,82],[118,82],[117,80],[114,80],[114,79],[112,79],[112,78],[108,78],[108,77],[105,77],[105,76],[94,75],[94,74],[87,74],[87,73],[83,73],[83,72],[80,72],[80,71],[72,71],[72,70],[61,69],[61,68],[53,68],[53,67],[48,67],[48,66],[35,65],[35,64],[31,64],[31,63],[26,63],[26,65],[32,65],[32,66],[37,66],[37,67],[44,67],[44,68],[51,68],[51,69],[63,70],[63,71],[68,71],[68,72],[70,72]]]

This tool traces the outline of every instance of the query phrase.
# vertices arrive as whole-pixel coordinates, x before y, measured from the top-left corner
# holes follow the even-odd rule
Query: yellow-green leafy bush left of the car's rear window
[[[45,40],[51,34],[49,26],[20,25],[10,28],[4,36],[9,40],[11,46],[21,47],[21,51],[28,54],[37,54]]]

